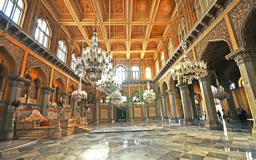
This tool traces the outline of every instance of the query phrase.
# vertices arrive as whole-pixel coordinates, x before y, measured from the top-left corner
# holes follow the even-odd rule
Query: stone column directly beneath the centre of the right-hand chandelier
[[[187,83],[179,83],[176,86],[178,86],[180,90],[181,102],[184,113],[184,123],[185,125],[194,125],[190,106],[190,97],[188,96],[187,92]]]

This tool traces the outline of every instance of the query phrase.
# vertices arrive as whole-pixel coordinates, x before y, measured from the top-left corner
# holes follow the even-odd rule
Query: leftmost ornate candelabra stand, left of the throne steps
[[[18,112],[21,112],[21,111],[23,111],[23,106],[18,97],[11,103],[11,106],[8,106],[8,112],[11,112],[11,123],[10,123],[10,131],[6,133],[6,139],[13,139],[15,118]]]

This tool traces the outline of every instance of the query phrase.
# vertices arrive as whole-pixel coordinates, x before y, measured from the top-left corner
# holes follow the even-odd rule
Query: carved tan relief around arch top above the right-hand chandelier
[[[223,39],[227,41],[227,43],[231,44],[230,35],[228,34],[227,26],[224,19],[222,19],[207,35],[205,35],[204,39],[196,45],[195,51],[197,60],[207,60],[207,58],[205,57],[204,59],[202,59],[201,56],[203,52],[205,51],[209,41],[218,39]],[[233,50],[233,47],[231,47],[231,50]],[[204,56],[208,56],[209,54],[210,53]]]

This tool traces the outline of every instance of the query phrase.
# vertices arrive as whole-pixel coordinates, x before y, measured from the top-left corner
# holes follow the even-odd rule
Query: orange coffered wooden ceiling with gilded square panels
[[[110,2],[109,2],[110,1]],[[152,59],[169,30],[173,0],[98,0],[99,47],[118,59]],[[91,47],[96,0],[43,0],[77,47]],[[110,28],[109,28],[110,4]],[[109,30],[111,32],[109,38]]]

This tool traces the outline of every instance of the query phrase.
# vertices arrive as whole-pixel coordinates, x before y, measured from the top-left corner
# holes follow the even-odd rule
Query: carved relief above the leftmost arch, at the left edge
[[[22,64],[25,50],[17,47],[14,43],[10,42],[9,40],[6,40],[3,37],[0,37],[0,45],[5,46],[11,52],[11,54],[14,55],[18,64]],[[21,72],[21,68],[19,68],[19,73],[20,72]]]

